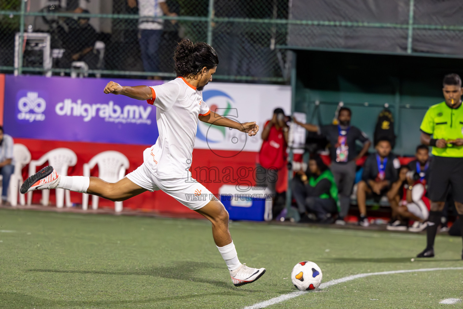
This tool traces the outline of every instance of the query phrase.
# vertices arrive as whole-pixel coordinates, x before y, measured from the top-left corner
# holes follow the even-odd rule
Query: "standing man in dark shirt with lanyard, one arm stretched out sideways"
[[[338,125],[315,126],[312,124],[294,122],[306,128],[307,131],[319,132],[330,142],[331,166],[336,185],[339,190],[339,220],[337,224],[345,224],[344,216],[350,207],[350,193],[355,182],[356,161],[362,158],[371,145],[367,135],[355,126],[350,126],[352,112],[347,107],[341,107],[338,113]],[[363,144],[357,152],[356,143]]]

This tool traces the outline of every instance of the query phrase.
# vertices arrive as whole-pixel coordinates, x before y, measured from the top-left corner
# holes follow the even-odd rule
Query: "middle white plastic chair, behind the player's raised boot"
[[[74,166],[77,163],[75,152],[69,148],[56,148],[45,153],[38,160],[32,160],[29,164],[29,176],[37,172],[37,167],[48,161],[48,164],[53,166],[58,175],[68,176],[69,166]],[[32,192],[27,192],[27,205],[32,203]],[[69,190],[56,189],[56,207],[63,208],[64,197],[66,197],[66,207],[71,207],[71,194]],[[50,190],[42,190],[42,205],[48,206],[50,200]]]

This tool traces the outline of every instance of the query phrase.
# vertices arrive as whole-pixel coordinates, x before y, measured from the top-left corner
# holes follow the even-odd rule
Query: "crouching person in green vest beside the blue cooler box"
[[[291,187],[297,202],[301,221],[308,221],[308,214],[317,222],[332,223],[332,214],[338,212],[338,187],[332,172],[318,155],[309,160],[306,173],[299,171]]]

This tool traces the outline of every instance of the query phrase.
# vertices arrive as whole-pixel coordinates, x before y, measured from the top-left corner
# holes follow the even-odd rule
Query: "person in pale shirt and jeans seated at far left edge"
[[[2,181],[2,202],[6,202],[8,193],[8,184],[10,177],[14,172],[13,165],[13,138],[3,133],[3,127],[0,126],[0,174],[3,176]]]

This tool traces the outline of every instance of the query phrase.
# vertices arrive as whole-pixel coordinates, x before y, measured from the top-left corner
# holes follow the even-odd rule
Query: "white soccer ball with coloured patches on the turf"
[[[319,287],[323,275],[317,264],[309,261],[297,263],[291,272],[291,281],[301,291],[312,291]]]

